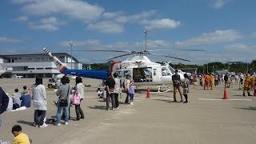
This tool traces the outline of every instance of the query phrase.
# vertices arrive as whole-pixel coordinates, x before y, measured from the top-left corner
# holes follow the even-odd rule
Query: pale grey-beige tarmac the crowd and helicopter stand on
[[[134,106],[123,103],[126,94],[122,93],[120,108],[107,111],[106,102],[96,94],[101,81],[83,78],[83,82],[91,85],[86,87],[86,98],[82,101],[85,119],[70,120],[68,126],[50,124],[38,128],[33,126],[33,106],[6,111],[1,115],[0,140],[12,142],[11,127],[19,124],[35,144],[256,144],[256,97],[243,97],[238,85],[227,89],[228,100],[222,100],[223,85],[214,90],[192,85],[186,104],[173,102],[173,92],[151,93],[151,98],[146,98],[146,90],[136,90]],[[33,83],[34,78],[0,79],[0,86],[9,94],[15,88],[22,90],[23,85]],[[46,83],[44,79],[45,86]],[[74,79],[71,84],[74,85]],[[57,108],[53,101],[57,96],[54,90],[46,90],[46,93],[46,116],[54,118]],[[74,106],[71,118],[75,118]]]

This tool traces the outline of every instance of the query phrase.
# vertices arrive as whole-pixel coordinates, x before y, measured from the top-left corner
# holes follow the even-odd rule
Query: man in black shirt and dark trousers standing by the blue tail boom
[[[108,78],[106,80],[106,110],[110,110],[110,98],[112,102],[112,110],[115,107],[114,101],[114,79],[112,78],[111,74],[107,74]]]

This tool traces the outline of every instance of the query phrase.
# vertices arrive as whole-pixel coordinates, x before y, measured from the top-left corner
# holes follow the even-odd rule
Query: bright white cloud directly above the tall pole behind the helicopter
[[[170,18],[143,20],[141,23],[147,30],[174,29],[181,25],[181,22]]]

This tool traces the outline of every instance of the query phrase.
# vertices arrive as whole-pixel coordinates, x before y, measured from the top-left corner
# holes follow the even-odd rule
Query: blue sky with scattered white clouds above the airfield
[[[0,54],[71,54],[83,63],[123,53],[75,50],[147,50],[152,62],[251,62],[256,50],[254,0],[3,0]],[[206,51],[183,51],[200,49]],[[181,51],[182,50],[182,51]],[[127,57],[118,58],[125,60]]]

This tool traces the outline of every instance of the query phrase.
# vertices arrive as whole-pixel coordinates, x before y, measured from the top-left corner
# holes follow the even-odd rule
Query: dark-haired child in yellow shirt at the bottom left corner
[[[22,127],[19,125],[15,125],[13,126],[13,128],[11,129],[11,132],[14,134],[14,144],[18,144],[18,143],[26,143],[26,144],[30,144],[30,138],[22,133]]]

